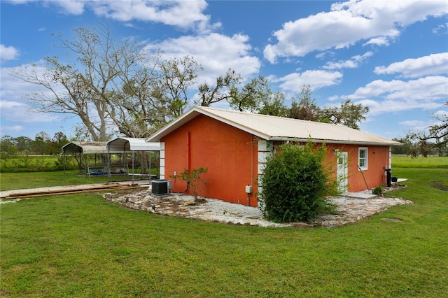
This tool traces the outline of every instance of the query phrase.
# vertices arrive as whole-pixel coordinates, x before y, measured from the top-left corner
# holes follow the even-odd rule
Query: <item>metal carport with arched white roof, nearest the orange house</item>
[[[132,152],[132,172],[129,173],[132,176],[132,181],[134,181],[134,177],[139,176],[140,178],[146,178],[151,180],[151,178],[156,178],[151,174],[151,152],[160,151],[160,143],[148,143],[144,138],[128,138],[128,137],[120,137],[113,139],[106,143],[107,152],[121,152],[123,155],[126,155],[126,152]],[[141,173],[135,173],[134,171],[134,152],[141,152]],[[149,152],[149,173],[143,173],[143,164],[144,164],[144,152]],[[110,155],[108,155],[110,157]],[[124,159],[123,159],[124,160]],[[109,158],[109,169],[111,160]],[[110,176],[109,171],[109,176]]]

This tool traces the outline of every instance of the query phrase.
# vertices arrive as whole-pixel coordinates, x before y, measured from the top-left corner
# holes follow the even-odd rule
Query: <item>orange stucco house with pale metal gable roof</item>
[[[400,145],[349,127],[199,106],[146,141],[160,141],[160,178],[172,180],[172,191],[187,189],[173,176],[204,167],[200,196],[257,206],[266,158],[285,142],[310,138],[328,146],[326,163],[342,192],[384,185],[390,146]]]

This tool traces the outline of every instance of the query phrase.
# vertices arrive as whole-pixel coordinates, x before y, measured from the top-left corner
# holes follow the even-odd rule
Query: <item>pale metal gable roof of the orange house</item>
[[[195,106],[181,115],[179,118],[160,129],[146,139],[147,142],[160,141],[164,136],[181,127],[186,122],[193,120],[198,115],[207,115],[232,127],[253,134],[265,140],[272,141],[307,141],[327,143],[351,143],[363,145],[402,145],[397,141],[381,136],[361,132],[358,129],[333,125],[328,123],[297,120],[270,115],[244,113],[239,111],[223,110],[220,108],[208,108]]]

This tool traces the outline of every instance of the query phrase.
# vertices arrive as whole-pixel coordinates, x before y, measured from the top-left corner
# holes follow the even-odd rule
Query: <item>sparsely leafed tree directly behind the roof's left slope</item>
[[[188,105],[188,89],[201,67],[193,57],[159,59],[134,76],[124,72],[123,93],[114,97],[120,132],[144,137],[179,117]]]

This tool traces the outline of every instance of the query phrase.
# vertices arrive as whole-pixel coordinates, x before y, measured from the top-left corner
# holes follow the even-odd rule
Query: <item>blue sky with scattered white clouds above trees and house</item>
[[[265,76],[290,99],[310,85],[320,106],[369,106],[365,132],[405,136],[448,113],[448,2],[441,1],[4,1],[1,9],[1,136],[73,136],[76,119],[30,111],[34,85],[19,65],[62,56],[73,28],[109,22],[166,57],[193,56],[213,83],[229,68]],[[192,90],[194,92],[194,90]],[[193,97],[191,99],[193,104]],[[287,101],[289,103],[290,101]],[[215,107],[228,108],[223,104]]]

